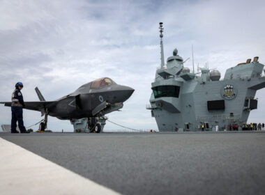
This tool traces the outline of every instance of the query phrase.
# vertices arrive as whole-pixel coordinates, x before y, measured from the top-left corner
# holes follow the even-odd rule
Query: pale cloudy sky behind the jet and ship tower
[[[146,104],[160,64],[158,23],[164,22],[165,58],[175,47],[183,59],[225,70],[259,56],[265,63],[265,1],[70,1],[0,0],[0,100],[10,101],[22,81],[25,101],[56,100],[99,77],[135,88],[110,120],[137,129],[157,129]],[[185,63],[191,68],[192,61]],[[265,89],[249,122],[264,121]],[[40,120],[24,110],[24,123]],[[0,105],[0,124],[10,124]],[[73,131],[68,120],[49,117],[49,129]],[[37,127],[33,129],[36,130]],[[107,123],[105,129],[119,129]]]

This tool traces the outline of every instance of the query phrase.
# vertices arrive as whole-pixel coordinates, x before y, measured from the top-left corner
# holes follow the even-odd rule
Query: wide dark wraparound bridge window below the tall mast
[[[155,98],[173,97],[179,98],[180,86],[156,86],[153,87]]]

